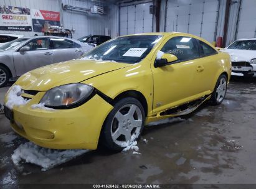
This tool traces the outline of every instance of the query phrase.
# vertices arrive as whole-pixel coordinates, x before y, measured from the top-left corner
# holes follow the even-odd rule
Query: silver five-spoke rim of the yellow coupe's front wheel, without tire
[[[125,147],[140,135],[143,124],[141,109],[135,104],[125,104],[111,122],[111,137],[115,144]]]

